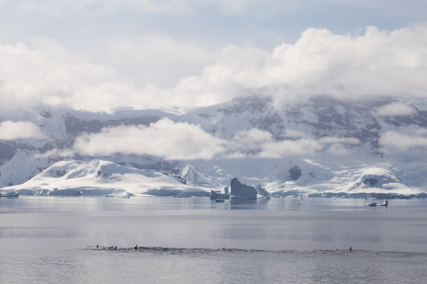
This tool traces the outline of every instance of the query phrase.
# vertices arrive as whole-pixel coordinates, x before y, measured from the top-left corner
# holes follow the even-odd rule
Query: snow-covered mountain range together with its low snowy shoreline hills
[[[391,98],[347,102],[315,96],[283,104],[270,97],[251,95],[188,112],[176,109],[121,109],[114,113],[20,109],[1,114],[0,122],[8,120],[33,123],[44,137],[0,141],[0,187],[5,187],[3,191],[23,189],[24,182],[27,188],[31,185],[34,189],[50,190],[83,188],[87,182],[87,188],[114,188],[142,194],[156,188],[222,189],[232,178],[238,177],[247,184],[261,184],[271,194],[282,196],[297,192],[401,197],[423,196],[427,185],[427,111]],[[196,137],[205,135],[208,137],[205,140],[210,140],[211,144],[197,148],[197,139],[190,143],[188,138],[186,145],[185,135],[193,132],[182,136],[181,132],[174,132],[167,138],[170,144],[160,140],[157,148],[148,148],[142,141],[141,148],[147,148],[146,152],[126,151],[126,145],[124,150],[122,147],[117,152],[114,149],[102,152],[98,148],[88,152],[79,148],[89,145],[87,141],[93,138],[92,134],[105,134],[100,136],[104,139],[101,142],[113,147],[114,141],[105,139],[110,129],[124,136],[128,129],[132,133],[140,129],[158,131],[165,124],[191,128],[190,131],[197,132]],[[170,133],[167,127],[166,132],[160,134]],[[181,141],[181,148],[173,144],[177,139]],[[206,145],[213,145],[212,149],[204,149]],[[160,148],[165,148],[168,155],[162,155]],[[193,151],[205,152],[203,156],[190,157],[188,153]],[[112,182],[110,178],[98,177],[98,171],[103,175],[110,171],[97,169],[103,163],[111,163],[107,168],[115,167],[118,172],[111,173],[121,178]],[[70,167],[74,168],[73,172],[78,171],[80,166],[77,165],[88,168],[84,177],[96,180],[93,187],[90,185],[93,181],[66,178],[71,175]],[[58,171],[66,171],[67,175],[50,176],[50,171],[55,174],[57,171],[52,166],[59,166],[62,169]],[[120,166],[123,169],[119,171]],[[89,168],[92,169],[89,171]],[[124,169],[129,172],[121,172]],[[147,171],[163,180],[166,177],[165,183],[147,177]],[[138,178],[130,178],[135,175]],[[42,180],[43,186],[37,183]]]

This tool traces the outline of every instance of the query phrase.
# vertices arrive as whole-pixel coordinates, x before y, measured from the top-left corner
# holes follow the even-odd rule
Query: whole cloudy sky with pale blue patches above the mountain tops
[[[426,15],[424,0],[0,0],[0,100],[108,109],[244,93],[426,97]]]

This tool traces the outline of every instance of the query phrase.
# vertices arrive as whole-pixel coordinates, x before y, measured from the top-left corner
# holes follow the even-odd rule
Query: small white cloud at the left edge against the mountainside
[[[29,121],[3,121],[0,123],[0,140],[43,139],[45,135],[40,128]]]

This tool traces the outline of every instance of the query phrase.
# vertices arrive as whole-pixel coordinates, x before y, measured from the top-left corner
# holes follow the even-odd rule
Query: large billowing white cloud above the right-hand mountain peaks
[[[307,29],[294,44],[269,54],[228,47],[218,63],[198,77],[183,79],[180,93],[200,97],[270,90],[279,99],[328,94],[347,100],[373,95],[425,96],[427,26],[395,31],[368,27],[361,35]]]

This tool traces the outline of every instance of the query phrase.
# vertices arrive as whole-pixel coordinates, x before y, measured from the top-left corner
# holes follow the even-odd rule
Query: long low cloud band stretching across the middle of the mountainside
[[[151,155],[165,159],[240,159],[244,157],[283,159],[313,157],[327,151],[330,155],[349,155],[358,139],[309,136],[277,140],[260,129],[240,131],[230,140],[219,139],[205,132],[200,125],[179,123],[163,118],[148,127],[144,125],[105,127],[99,133],[80,134],[72,148],[53,149],[39,158],[79,156],[105,157],[116,153]]]

